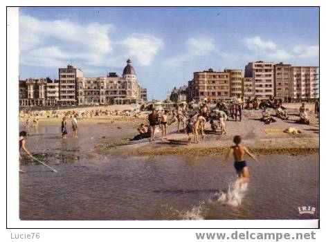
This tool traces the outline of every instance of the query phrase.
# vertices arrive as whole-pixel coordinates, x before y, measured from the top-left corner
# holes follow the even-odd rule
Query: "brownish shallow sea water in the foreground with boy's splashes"
[[[78,139],[60,139],[60,127],[30,128],[27,146],[58,173],[24,162],[20,217],[24,220],[161,220],[319,218],[319,157],[258,156],[251,180],[235,191],[233,162],[219,157],[114,157],[99,142],[133,129],[83,126]],[[105,138],[102,138],[105,136]],[[300,206],[316,213],[299,214]]]

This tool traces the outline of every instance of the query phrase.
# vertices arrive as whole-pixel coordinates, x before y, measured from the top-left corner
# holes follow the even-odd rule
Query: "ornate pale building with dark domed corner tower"
[[[147,100],[147,89],[139,86],[130,59],[122,76],[108,73],[107,77],[77,77],[77,90],[79,105],[141,103],[142,95]]]

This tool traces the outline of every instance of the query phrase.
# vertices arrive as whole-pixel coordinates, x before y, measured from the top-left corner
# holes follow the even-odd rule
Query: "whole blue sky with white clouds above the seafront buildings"
[[[84,77],[122,75],[132,59],[148,97],[164,100],[195,71],[248,62],[319,66],[319,9],[20,8],[19,78],[51,77],[67,64]]]

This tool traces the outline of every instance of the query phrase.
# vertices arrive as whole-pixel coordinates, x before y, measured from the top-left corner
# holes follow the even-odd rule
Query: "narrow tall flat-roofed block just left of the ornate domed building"
[[[60,104],[77,104],[77,78],[82,76],[82,70],[71,65],[66,68],[59,68]]]

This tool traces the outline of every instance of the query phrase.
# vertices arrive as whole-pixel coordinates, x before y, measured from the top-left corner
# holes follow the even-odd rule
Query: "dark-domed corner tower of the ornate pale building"
[[[125,89],[127,98],[138,99],[139,90],[138,83],[136,79],[136,72],[132,66],[132,61],[127,59],[127,66],[123,69],[123,79],[125,80]]]

